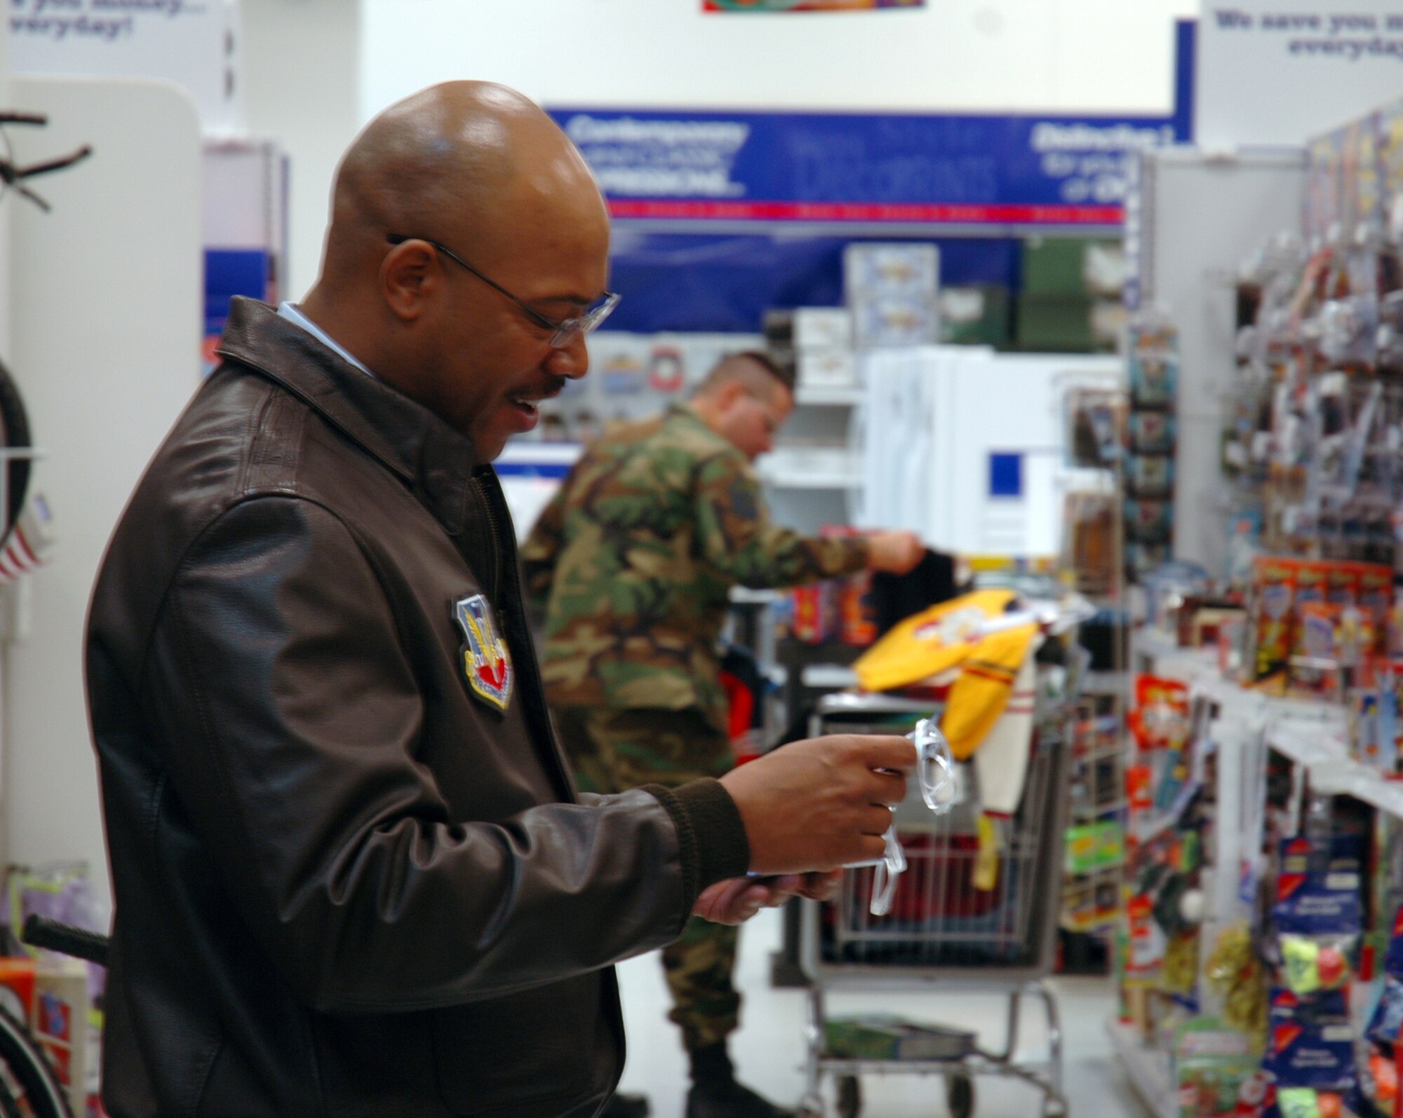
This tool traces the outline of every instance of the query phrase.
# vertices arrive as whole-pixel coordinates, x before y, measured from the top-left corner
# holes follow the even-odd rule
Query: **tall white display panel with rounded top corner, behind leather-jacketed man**
[[[43,181],[52,213],[0,203],[17,277],[3,356],[46,450],[32,483],[58,537],[25,580],[29,633],[6,649],[0,803],[11,860],[83,859],[102,897],[86,612],[112,527],[198,384],[199,119],[177,87],[135,78],[13,78],[11,101],[49,116],[15,137],[22,157],[93,156]]]

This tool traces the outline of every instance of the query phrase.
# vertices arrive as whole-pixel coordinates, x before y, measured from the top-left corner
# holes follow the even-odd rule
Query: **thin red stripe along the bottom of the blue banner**
[[[954,206],[885,202],[696,202],[609,199],[615,217],[706,221],[923,221],[971,226],[1115,226],[1121,206]]]

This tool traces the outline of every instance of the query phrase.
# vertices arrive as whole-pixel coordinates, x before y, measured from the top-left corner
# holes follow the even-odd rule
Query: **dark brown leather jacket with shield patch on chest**
[[[610,964],[745,871],[735,804],[574,793],[466,439],[262,304],[220,354],[90,615],[107,1107],[595,1114]]]

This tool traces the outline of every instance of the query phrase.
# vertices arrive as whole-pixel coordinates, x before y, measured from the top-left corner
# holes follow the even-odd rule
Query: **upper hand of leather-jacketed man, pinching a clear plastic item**
[[[882,856],[891,804],[916,766],[895,734],[797,741],[721,778],[751,842],[751,873],[833,870]]]

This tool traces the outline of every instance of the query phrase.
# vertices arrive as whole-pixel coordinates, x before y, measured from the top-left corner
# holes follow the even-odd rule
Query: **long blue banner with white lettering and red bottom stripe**
[[[1193,27],[1180,27],[1179,90]],[[1118,226],[1127,158],[1190,139],[1172,116],[553,108],[616,219],[849,226]]]

